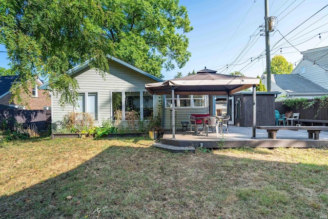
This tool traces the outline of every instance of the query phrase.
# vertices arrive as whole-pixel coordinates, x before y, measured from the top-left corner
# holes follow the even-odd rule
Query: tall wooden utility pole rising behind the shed
[[[267,90],[271,92],[271,58],[270,58],[270,36],[269,36],[269,0],[265,2],[265,50],[267,54]]]

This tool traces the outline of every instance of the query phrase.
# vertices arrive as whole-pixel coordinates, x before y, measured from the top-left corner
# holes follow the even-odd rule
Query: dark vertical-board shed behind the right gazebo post
[[[275,98],[279,92],[256,92],[256,125],[275,126]],[[238,92],[232,106],[234,125],[252,127],[253,125],[253,96],[252,92]],[[230,111],[230,110],[229,110]]]

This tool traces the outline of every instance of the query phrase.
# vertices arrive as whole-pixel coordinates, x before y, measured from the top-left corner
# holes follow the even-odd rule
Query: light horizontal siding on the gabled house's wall
[[[95,70],[86,68],[74,75],[78,82],[78,92],[98,93],[98,120],[95,126],[101,126],[103,120],[111,118],[111,92],[119,91],[146,91],[145,84],[156,82],[154,79],[136,72],[124,65],[109,61],[110,74],[106,74],[105,80]],[[52,128],[54,129],[68,112],[73,111],[73,106],[61,109],[59,106],[60,96],[52,96]],[[160,106],[159,97],[156,97],[156,112]],[[125,124],[123,122],[123,124]]]

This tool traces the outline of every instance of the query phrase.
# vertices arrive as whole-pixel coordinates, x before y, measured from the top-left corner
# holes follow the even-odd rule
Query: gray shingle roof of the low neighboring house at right
[[[327,89],[299,74],[274,74],[274,78],[276,85],[289,93],[328,93]]]

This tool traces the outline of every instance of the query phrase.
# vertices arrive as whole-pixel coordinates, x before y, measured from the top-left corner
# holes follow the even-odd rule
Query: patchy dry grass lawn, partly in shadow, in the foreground
[[[2,143],[2,218],[328,218],[328,149],[174,154],[143,138]]]

